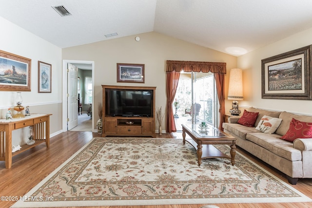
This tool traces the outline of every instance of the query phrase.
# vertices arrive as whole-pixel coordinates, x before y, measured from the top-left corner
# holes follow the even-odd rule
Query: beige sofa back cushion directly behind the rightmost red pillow
[[[281,124],[279,125],[279,127],[277,128],[276,132],[279,135],[285,135],[286,132],[289,129],[290,123],[292,121],[292,118],[299,120],[299,121],[304,121],[304,122],[312,122],[312,116],[308,116],[308,115],[297,115],[297,114],[293,114],[293,113],[288,113],[288,112],[282,112],[279,115],[279,118],[282,119]]]

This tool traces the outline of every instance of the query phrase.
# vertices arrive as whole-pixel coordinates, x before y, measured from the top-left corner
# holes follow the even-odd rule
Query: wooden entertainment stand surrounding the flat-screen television
[[[106,89],[129,89],[129,90],[153,90],[153,113],[151,116],[132,115],[132,117],[120,115],[108,115],[106,109]],[[155,133],[155,91],[156,87],[128,87],[102,85],[102,111],[103,126],[102,137],[106,136],[152,136]]]

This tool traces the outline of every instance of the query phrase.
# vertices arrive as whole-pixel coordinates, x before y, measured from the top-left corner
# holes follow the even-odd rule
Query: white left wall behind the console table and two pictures
[[[61,48],[22,29],[0,17],[0,50],[31,59],[31,92],[22,92],[23,106],[30,107],[30,113],[53,113],[50,117],[50,133],[61,130],[62,65]],[[38,61],[52,64],[52,93],[38,93]],[[7,109],[16,105],[16,92],[1,91],[0,118]],[[12,112],[15,113],[14,111]],[[26,130],[16,130],[13,145],[26,143]],[[26,138],[27,139],[27,138]]]

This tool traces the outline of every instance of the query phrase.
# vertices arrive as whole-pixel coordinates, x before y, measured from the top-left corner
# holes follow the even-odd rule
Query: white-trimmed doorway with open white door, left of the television
[[[78,69],[80,70],[88,70],[89,73],[91,71],[91,76],[92,76],[92,83],[94,83],[94,61],[83,61],[83,60],[63,60],[63,90],[62,90],[62,97],[63,97],[63,105],[62,105],[62,110],[63,110],[63,116],[62,116],[62,120],[63,120],[63,125],[62,125],[62,131],[66,132],[68,131],[68,123],[69,123],[69,118],[71,117],[71,119],[75,119],[77,118],[78,122],[77,125],[82,125],[83,122],[79,122],[79,116],[78,116],[78,73],[77,73],[77,78],[73,81],[70,80],[69,81],[69,73],[68,73],[68,64],[72,64],[74,66],[76,66]],[[81,78],[80,78],[80,82],[81,82]],[[70,96],[68,90],[69,88],[71,88],[71,85],[74,85],[74,88],[76,87],[76,92],[77,95],[74,96]],[[69,86],[69,87],[68,87]],[[80,85],[82,86],[82,85]],[[74,89],[73,88],[73,89]],[[81,92],[81,91],[80,91]],[[72,100],[74,100],[75,102],[75,96],[76,96],[76,104],[71,105],[70,102],[72,102]],[[79,95],[80,97],[82,97],[83,95]],[[81,98],[80,98],[81,99]],[[92,86],[92,103],[94,102],[94,85]],[[71,115],[72,114],[72,115]],[[94,111],[91,112],[91,115],[89,116],[88,119],[91,120],[91,131],[94,131]],[[85,116],[81,116],[80,115],[80,119],[83,119],[82,117]],[[89,122],[90,123],[90,122]],[[84,131],[84,128],[80,128],[81,131]],[[79,130],[78,130],[79,131]]]

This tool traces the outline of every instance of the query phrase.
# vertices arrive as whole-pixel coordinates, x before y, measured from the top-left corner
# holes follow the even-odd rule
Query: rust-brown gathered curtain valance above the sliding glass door
[[[212,72],[226,74],[226,63],[223,62],[201,62],[201,61],[173,61],[167,60],[166,72]]]

